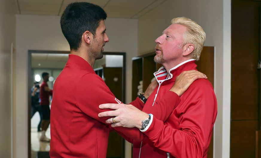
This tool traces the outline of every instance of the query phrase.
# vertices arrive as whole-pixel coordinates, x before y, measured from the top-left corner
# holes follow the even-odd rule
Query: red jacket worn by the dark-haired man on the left
[[[173,105],[180,102],[174,92],[169,92],[172,100],[163,97],[149,110],[173,111]],[[166,103],[171,106],[165,106]],[[121,103],[112,94],[102,78],[95,74],[92,67],[83,58],[69,54],[68,61],[57,77],[53,88],[51,104],[51,158],[106,158],[110,126],[105,120],[111,117],[98,117],[98,113],[109,109],[100,109],[103,103]],[[131,104],[142,109],[144,103],[137,98]],[[167,114],[156,114],[165,118]],[[123,132],[125,137],[143,140],[147,136],[138,128],[114,128]],[[135,133],[135,134],[134,134]]]

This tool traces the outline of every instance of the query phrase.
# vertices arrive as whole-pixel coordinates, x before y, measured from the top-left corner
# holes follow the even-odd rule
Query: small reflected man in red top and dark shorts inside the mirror
[[[50,139],[45,136],[45,132],[50,125],[50,95],[53,95],[53,90],[48,87],[47,82],[49,81],[49,74],[47,72],[42,73],[43,82],[40,87],[40,106],[42,110],[42,135],[40,137],[40,141],[42,142],[50,142]]]

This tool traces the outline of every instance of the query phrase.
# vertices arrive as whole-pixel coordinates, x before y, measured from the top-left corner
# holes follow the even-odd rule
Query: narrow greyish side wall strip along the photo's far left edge
[[[0,157],[12,156],[11,44],[15,44],[13,1],[0,2]]]

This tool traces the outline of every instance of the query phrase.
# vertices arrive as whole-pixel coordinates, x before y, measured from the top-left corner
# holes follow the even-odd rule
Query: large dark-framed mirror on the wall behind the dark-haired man
[[[40,123],[40,115],[31,104],[31,94],[33,83],[38,81],[42,83],[42,72],[49,73],[49,88],[53,89],[55,79],[64,68],[69,51],[28,51],[28,157],[49,157],[50,143],[40,142],[39,138],[41,132],[38,131]],[[99,75],[112,93],[125,102],[125,76],[126,76],[126,53],[121,52],[103,52],[103,58],[97,60],[94,65],[94,71]],[[50,97],[51,100],[51,97]],[[51,103],[51,102],[50,102]],[[31,114],[33,114],[31,116]],[[50,126],[46,131],[46,136],[50,138]],[[114,140],[112,145],[119,148],[117,157],[124,157],[124,139],[121,138],[116,132],[110,134],[109,140]],[[115,140],[117,140],[115,142]],[[115,152],[108,148],[107,156],[115,155]]]

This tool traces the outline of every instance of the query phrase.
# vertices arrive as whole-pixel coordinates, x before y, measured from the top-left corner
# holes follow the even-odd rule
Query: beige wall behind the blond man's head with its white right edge
[[[214,127],[214,157],[229,157],[231,86],[231,2],[230,0],[167,0],[138,21],[138,53],[155,48],[155,39],[172,18],[185,16],[206,32],[204,46],[215,47],[214,88],[218,116]]]

